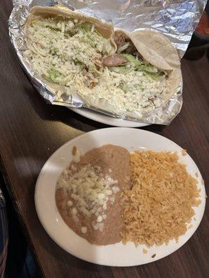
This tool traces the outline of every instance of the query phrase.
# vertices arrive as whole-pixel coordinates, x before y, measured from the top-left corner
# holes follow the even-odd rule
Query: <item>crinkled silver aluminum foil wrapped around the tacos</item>
[[[33,6],[64,4],[71,10],[97,17],[113,24],[114,27],[125,28],[127,31],[143,30],[144,28],[159,31],[169,38],[182,58],[201,18],[206,2],[206,0],[13,0],[14,8],[8,22],[10,39],[24,70],[31,78],[31,82],[49,103],[78,109],[87,107],[112,117],[137,122],[170,124],[180,112],[183,103],[182,84],[163,106],[136,117],[124,114],[116,115],[102,99],[96,107],[89,105],[87,101],[74,92],[69,94],[68,87],[47,83],[34,74],[29,61],[22,55],[23,51],[26,50],[24,22]]]

